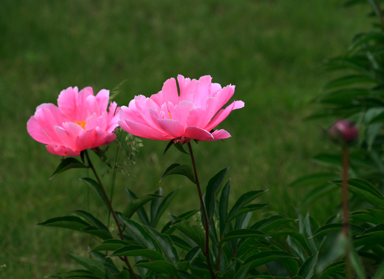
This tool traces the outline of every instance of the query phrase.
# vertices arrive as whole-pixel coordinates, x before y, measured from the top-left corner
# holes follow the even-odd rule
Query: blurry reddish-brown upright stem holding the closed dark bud
[[[350,239],[349,239],[349,223],[348,223],[348,170],[349,170],[349,147],[343,147],[342,151],[343,160],[343,184],[342,184],[342,198],[343,198],[343,233],[347,237],[347,246],[345,256],[347,260],[347,276],[352,278],[352,267],[350,257]]]

